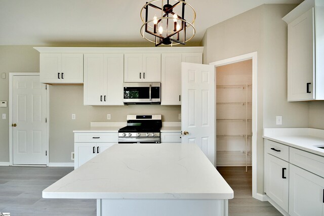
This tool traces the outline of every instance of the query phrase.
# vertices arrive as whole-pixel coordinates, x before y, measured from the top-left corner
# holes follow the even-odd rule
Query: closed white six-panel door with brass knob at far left
[[[13,76],[13,164],[47,164],[46,85]]]

